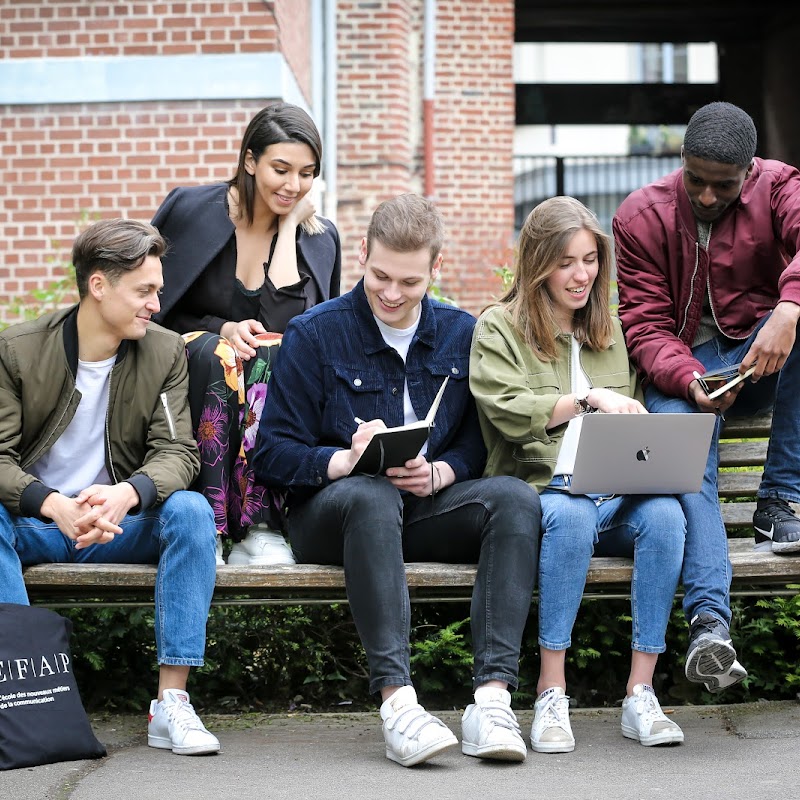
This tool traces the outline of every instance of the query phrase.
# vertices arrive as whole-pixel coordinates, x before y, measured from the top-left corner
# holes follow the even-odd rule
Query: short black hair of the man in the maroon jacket
[[[683,137],[685,155],[749,167],[758,135],[752,117],[732,103],[709,103],[692,114]]]

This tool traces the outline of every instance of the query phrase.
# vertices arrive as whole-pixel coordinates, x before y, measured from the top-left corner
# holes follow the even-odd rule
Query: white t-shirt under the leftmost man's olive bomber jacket
[[[75,386],[81,399],[75,416],[50,450],[28,468],[31,475],[67,497],[93,483],[111,484],[105,430],[108,385],[116,359],[78,361]]]

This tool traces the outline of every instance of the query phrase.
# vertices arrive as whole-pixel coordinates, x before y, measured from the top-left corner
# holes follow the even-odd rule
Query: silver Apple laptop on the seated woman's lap
[[[685,494],[703,482],[714,414],[587,414],[572,494]]]

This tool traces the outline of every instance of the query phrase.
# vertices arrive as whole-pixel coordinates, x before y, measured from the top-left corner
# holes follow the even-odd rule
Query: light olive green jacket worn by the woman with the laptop
[[[642,400],[642,391],[615,317],[611,346],[581,347],[581,367],[593,387]],[[488,459],[484,475],[514,475],[541,491],[553,477],[566,423],[547,430],[553,409],[571,392],[570,337],[559,334],[557,361],[540,361],[499,306],[481,314],[472,336],[469,385]]]

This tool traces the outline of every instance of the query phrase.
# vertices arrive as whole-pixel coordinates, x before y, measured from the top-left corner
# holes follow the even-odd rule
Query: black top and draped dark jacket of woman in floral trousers
[[[225,183],[178,187],[153,217],[169,246],[161,259],[164,292],[157,322],[178,333],[219,333],[230,320],[257,319],[267,330],[283,333],[292,317],[338,297],[339,233],[330,220],[320,218],[326,228],[323,233],[310,236],[298,228],[301,279],[280,289],[267,276],[277,236],[273,238],[256,304],[236,279],[236,228],[228,217],[227,191]]]

